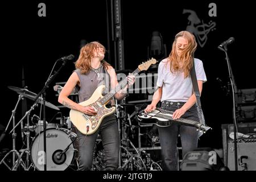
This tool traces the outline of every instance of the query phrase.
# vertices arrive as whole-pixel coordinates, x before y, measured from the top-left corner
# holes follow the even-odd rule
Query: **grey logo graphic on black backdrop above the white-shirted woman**
[[[186,28],[187,31],[191,32],[196,36],[197,43],[200,47],[204,47],[205,43],[207,42],[207,35],[210,31],[216,30],[216,23],[209,21],[208,23],[204,23],[203,19],[199,19],[196,12],[193,10],[183,10],[183,14],[188,15],[188,26]]]

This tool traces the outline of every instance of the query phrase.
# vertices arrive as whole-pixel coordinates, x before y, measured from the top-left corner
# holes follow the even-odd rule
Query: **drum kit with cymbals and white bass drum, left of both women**
[[[72,168],[75,165],[75,153],[76,149],[74,147],[74,142],[77,138],[76,134],[71,131],[71,129],[65,128],[65,123],[61,125],[57,123],[47,123],[46,122],[46,159],[44,154],[44,135],[43,135],[43,121],[37,115],[34,115],[30,119],[31,110],[27,111],[27,124],[23,126],[23,119],[15,125],[15,111],[19,104],[19,101],[24,98],[28,98],[32,101],[36,100],[36,93],[31,92],[27,88],[17,88],[14,86],[8,86],[9,89],[15,91],[19,94],[18,101],[12,111],[9,123],[0,137],[1,140],[5,137],[6,131],[10,125],[11,120],[13,120],[13,129],[10,131],[13,136],[13,150],[7,152],[7,154],[0,161],[0,165],[3,163],[11,171],[16,171],[17,169],[23,168],[25,171],[28,170],[44,170],[44,162],[47,163],[47,171],[64,171],[67,168]],[[45,105],[51,109],[60,110],[59,107],[51,104],[50,102],[44,101]],[[43,98],[38,97],[38,103],[43,103]],[[31,120],[36,120],[38,123],[33,123],[31,125]],[[26,148],[19,151],[16,150],[16,133],[15,128],[20,123],[20,128],[22,131],[22,139],[26,140]],[[32,138],[31,134],[35,137]],[[24,142],[23,142],[24,143]],[[13,166],[7,164],[5,160],[7,157],[13,154]],[[26,155],[26,156],[24,156]]]

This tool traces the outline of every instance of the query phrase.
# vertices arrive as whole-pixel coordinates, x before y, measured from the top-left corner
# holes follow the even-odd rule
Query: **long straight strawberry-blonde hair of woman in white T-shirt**
[[[188,41],[188,45],[183,49],[183,52],[180,56],[178,56],[176,52],[176,43],[177,38],[179,37],[185,38]],[[193,65],[196,47],[197,43],[193,34],[188,31],[181,31],[177,33],[174,39],[174,43],[172,44],[172,51],[168,56],[168,61],[170,61],[170,71],[175,73],[179,69],[182,69],[184,72],[184,78],[187,78],[190,75],[189,73]]]

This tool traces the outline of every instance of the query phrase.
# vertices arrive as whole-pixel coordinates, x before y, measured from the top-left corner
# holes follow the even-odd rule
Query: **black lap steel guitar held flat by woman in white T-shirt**
[[[199,131],[201,132],[203,131],[203,133],[205,133],[209,129],[212,129],[211,127],[205,126],[197,121],[193,121],[190,119],[184,119],[184,118],[173,119],[172,114],[174,114],[174,112],[163,110],[160,108],[156,108],[150,113],[144,113],[144,110],[143,110],[138,114],[138,117],[141,118],[141,119],[138,119],[139,120],[138,122],[142,124],[154,124],[160,127],[167,127],[167,126],[170,126],[172,123],[178,123],[180,125],[196,127]]]

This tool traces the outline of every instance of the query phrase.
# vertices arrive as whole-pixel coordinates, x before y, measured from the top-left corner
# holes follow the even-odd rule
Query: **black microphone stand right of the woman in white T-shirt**
[[[234,125],[234,158],[235,158],[235,171],[237,171],[237,121],[236,121],[236,104],[235,104],[235,94],[237,94],[237,85],[234,80],[234,75],[232,72],[232,68],[229,61],[228,56],[228,48],[225,46],[218,46],[218,49],[225,52],[226,55],[226,61],[228,64],[228,70],[229,70],[229,78],[230,83],[232,87],[232,98],[233,98],[233,125]]]

